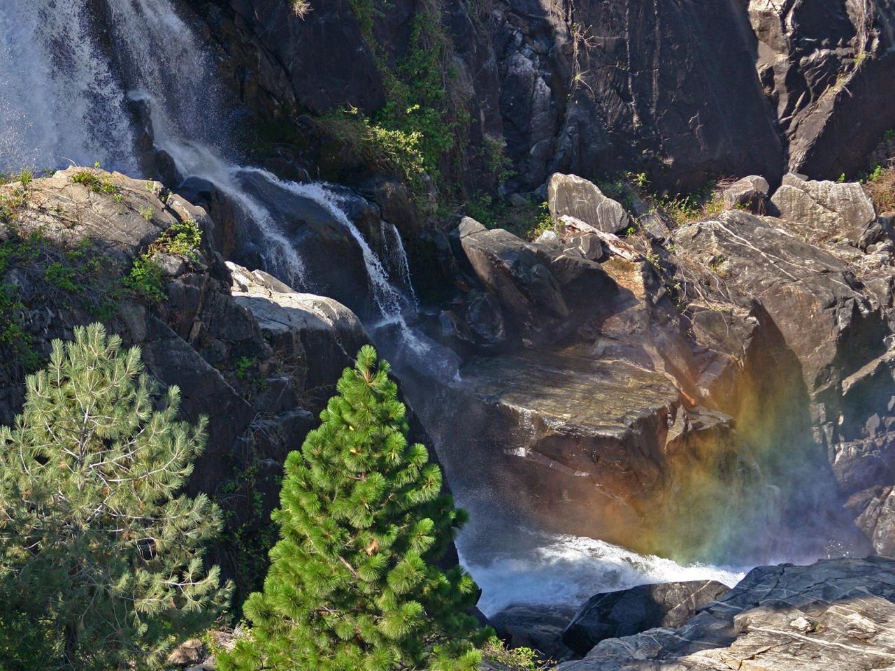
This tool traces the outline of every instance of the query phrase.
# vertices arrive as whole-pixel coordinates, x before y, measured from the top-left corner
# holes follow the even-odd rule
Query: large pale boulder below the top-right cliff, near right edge
[[[873,201],[855,182],[815,182],[786,174],[771,196],[771,214],[797,224],[798,232],[813,242],[846,239],[865,249],[882,233]]]

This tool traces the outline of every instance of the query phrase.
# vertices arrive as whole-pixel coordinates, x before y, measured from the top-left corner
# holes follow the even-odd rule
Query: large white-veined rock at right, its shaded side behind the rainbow
[[[873,436],[867,429],[874,414],[882,418],[891,412],[886,405],[895,394],[882,342],[888,320],[851,264],[789,230],[780,219],[730,211],[675,232],[678,255],[704,270],[713,268],[705,285],[712,287],[714,299],[736,306],[729,319],[722,319],[723,326],[712,326],[721,315],[697,313],[695,323],[710,329],[703,331],[704,342],[719,352],[701,357],[720,372],[712,373],[714,382],[705,378],[702,384],[720,384],[713,397],[728,412],[736,412],[729,403],[749,399],[740,407],[754,406],[756,413],[738,422],[744,437],[753,433],[756,420],[780,432],[777,437],[755,432],[748,438],[759,452],[788,442],[798,468],[768,463],[763,471],[776,472],[772,477],[793,497],[789,505],[805,511],[802,529],[794,533],[813,529],[807,535],[822,538],[839,529],[845,535],[835,544],[860,552],[865,541],[851,536],[856,527],[842,519],[829,521],[848,510],[882,550],[889,546],[879,544],[874,530],[878,521],[882,527],[886,523],[863,511],[868,506],[882,510],[878,496],[884,495],[876,488],[892,481],[883,465],[888,463],[888,429],[881,423]],[[746,310],[746,321],[737,319],[737,310]],[[725,344],[717,337],[719,327],[737,322],[741,326],[728,333],[741,335]],[[730,368],[729,354],[720,353],[725,351],[734,361],[742,356],[737,352],[746,353],[741,359],[746,376]],[[772,384],[763,381],[761,371],[767,369],[775,370]],[[798,485],[800,480],[804,484]],[[818,496],[821,490],[829,494]]]

